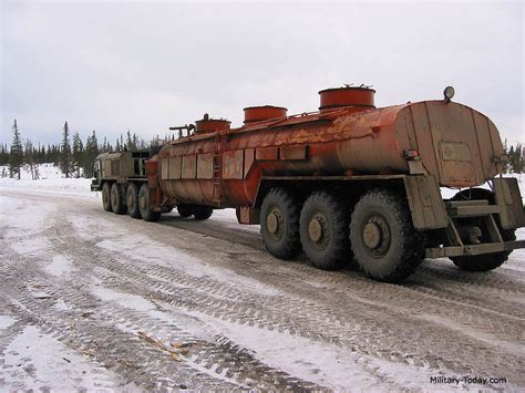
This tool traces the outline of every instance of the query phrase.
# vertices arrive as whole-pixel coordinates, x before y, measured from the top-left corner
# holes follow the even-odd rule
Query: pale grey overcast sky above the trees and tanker
[[[369,84],[375,103],[442,97],[525,142],[522,2],[0,0],[1,135],[34,143],[130,128],[144,137],[208,112],[315,111],[317,92]]]

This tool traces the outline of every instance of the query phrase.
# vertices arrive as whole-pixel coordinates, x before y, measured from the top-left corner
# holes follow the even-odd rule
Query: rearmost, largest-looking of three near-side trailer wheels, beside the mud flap
[[[424,242],[408,206],[389,190],[359,199],[350,221],[350,244],[360,268],[372,279],[398,282],[424,258]]]

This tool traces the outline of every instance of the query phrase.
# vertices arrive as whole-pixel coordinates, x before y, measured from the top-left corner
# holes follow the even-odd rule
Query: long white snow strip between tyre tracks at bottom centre
[[[198,311],[186,310],[186,313],[199,319],[216,334],[224,334],[235,344],[249,349],[262,363],[330,390],[347,391],[349,386],[384,389],[385,385],[378,384],[378,380],[385,384],[391,381],[409,390],[431,387],[426,373],[409,365],[357,354],[288,332],[239,325]]]

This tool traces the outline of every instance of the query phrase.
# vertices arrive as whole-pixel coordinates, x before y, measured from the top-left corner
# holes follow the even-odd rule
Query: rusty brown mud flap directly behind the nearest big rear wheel
[[[449,226],[445,205],[434,176],[405,176],[404,187],[415,229],[439,229]]]

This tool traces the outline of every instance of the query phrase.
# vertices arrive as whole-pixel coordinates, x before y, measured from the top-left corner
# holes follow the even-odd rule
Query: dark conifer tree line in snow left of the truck
[[[168,135],[166,135],[166,139]],[[173,136],[172,136],[173,139]],[[120,152],[123,149],[143,149],[155,148],[162,144],[161,138],[155,136],[150,142],[145,142],[135,133],[128,130],[125,137],[123,134],[116,138],[115,144],[103,138],[99,142],[96,132],[86,137],[85,142],[75,131],[71,135],[68,122],[62,127],[62,142],[41,145],[34,145],[29,138],[23,138],[19,130],[17,120],[12,125],[12,143],[0,145],[0,165],[9,167],[9,177],[20,179],[21,168],[27,166],[31,172],[32,178],[39,178],[38,164],[52,163],[60,168],[65,177],[93,177],[93,167],[95,158],[101,153]],[[6,174],[0,174],[4,176]]]

